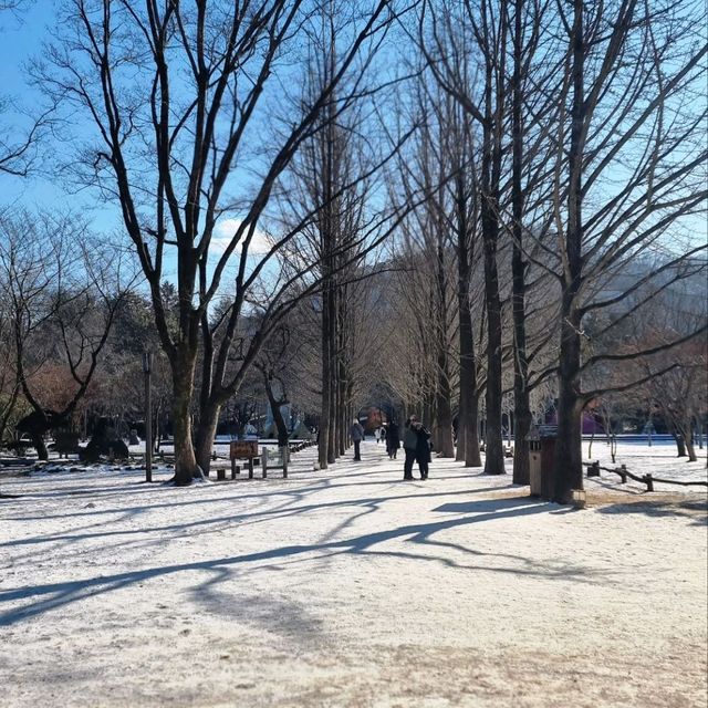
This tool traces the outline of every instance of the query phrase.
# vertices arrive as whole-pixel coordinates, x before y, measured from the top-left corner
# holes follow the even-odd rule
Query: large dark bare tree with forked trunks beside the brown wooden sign
[[[292,238],[282,235],[266,256],[253,259],[258,225],[273,186],[300,145],[321,128],[330,103],[346,107],[363,90],[335,96],[335,88],[362,56],[371,56],[396,18],[397,4],[351,6],[352,22],[342,41],[331,80],[314,96],[290,96],[303,32],[320,17],[319,2],[212,0],[188,8],[154,0],[74,0],[62,24],[63,43],[51,64],[40,67],[53,95],[80,106],[93,119],[97,143],[84,152],[84,177],[115,199],[149,283],[160,343],[174,383],[176,483],[189,483],[209,462],[220,406],[238,389],[260,346],[279,317],[293,305],[293,280],[270,289],[261,327],[250,337],[240,366],[227,378],[231,347],[256,285],[272,257]],[[406,10],[406,6],[402,6]],[[360,66],[366,66],[364,59]],[[279,95],[280,94],[280,95]],[[278,115],[275,98],[290,114]],[[270,100],[270,101],[269,101]],[[292,106],[299,106],[294,114]],[[281,119],[266,145],[267,116]],[[244,187],[246,167],[258,168]],[[253,173],[251,173],[253,174]],[[235,199],[239,190],[241,198]],[[218,253],[215,229],[223,215],[233,228]],[[232,257],[235,257],[232,259]],[[170,331],[159,283],[176,263],[179,322]],[[233,308],[218,346],[208,308],[235,264]],[[311,264],[308,264],[311,266]],[[302,294],[298,290],[298,296]],[[190,406],[202,341],[197,454],[191,441]]]

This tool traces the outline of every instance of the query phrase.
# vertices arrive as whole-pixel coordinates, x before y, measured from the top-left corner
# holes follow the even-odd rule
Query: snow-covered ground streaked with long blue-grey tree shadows
[[[706,479],[675,455],[616,465]],[[705,487],[603,472],[576,511],[452,460],[404,482],[368,440],[314,456],[187,489],[0,470],[0,705],[705,707]]]

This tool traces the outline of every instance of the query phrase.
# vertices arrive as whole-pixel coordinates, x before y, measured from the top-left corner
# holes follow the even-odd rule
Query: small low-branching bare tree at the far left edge
[[[75,217],[28,214],[0,219],[0,269],[8,288],[14,386],[32,408],[24,420],[40,459],[43,434],[69,425],[106,345],[113,319],[133,278],[121,258],[96,258]],[[97,260],[102,262],[98,263]],[[65,369],[58,410],[41,400],[49,368]],[[22,421],[21,421],[22,423]]]

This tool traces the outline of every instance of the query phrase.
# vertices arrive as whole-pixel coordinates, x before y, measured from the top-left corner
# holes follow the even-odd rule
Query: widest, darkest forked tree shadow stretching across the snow
[[[354,516],[371,513],[372,510],[378,509],[375,500],[368,500],[368,504],[369,507],[365,508],[364,511],[361,510],[361,504],[358,504],[357,507],[360,508],[357,508]],[[596,571],[592,571],[592,575],[589,575],[589,571],[580,565],[556,561],[539,563],[522,555],[481,552],[445,539],[435,538],[440,532],[475,523],[510,517],[542,514],[553,509],[558,509],[558,506],[539,502],[529,497],[460,503],[451,502],[441,504],[433,511],[454,516],[428,523],[410,523],[345,539],[330,538],[317,543],[282,545],[242,555],[131,570],[84,580],[27,585],[14,589],[6,586],[0,590],[0,626],[17,624],[23,620],[81,601],[84,597],[111,593],[153,579],[169,577],[180,573],[206,573],[207,577],[195,589],[195,597],[198,602],[201,602],[201,591],[204,590],[206,591],[204,600],[208,601],[209,596],[215,592],[215,585],[232,580],[236,575],[241,576],[240,581],[246,580],[247,582],[249,573],[264,570],[264,562],[273,561],[273,565],[267,566],[267,569],[282,570],[288,564],[317,563],[340,555],[385,555],[420,562],[444,563],[469,571],[565,580],[573,577],[585,582],[596,582],[598,580]],[[340,530],[342,528],[344,527],[340,527]],[[392,548],[391,543],[398,543],[398,546]],[[435,553],[436,550],[439,551],[440,549],[448,551],[447,555]],[[450,550],[455,551],[460,556],[460,560],[450,558]],[[482,562],[486,556],[491,559],[490,563]],[[508,561],[508,563],[506,565],[500,564],[499,559]],[[21,602],[23,604],[20,607],[2,611],[2,604],[10,602]]]

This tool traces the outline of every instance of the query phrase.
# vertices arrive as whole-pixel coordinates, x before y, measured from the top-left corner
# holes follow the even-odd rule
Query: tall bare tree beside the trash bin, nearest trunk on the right
[[[618,0],[589,8],[574,0],[570,10],[559,6],[568,43],[560,94],[566,112],[556,134],[558,501],[569,501],[571,490],[582,488],[581,415],[597,393],[582,389],[583,371],[636,354],[583,361],[584,316],[616,305],[636,289],[625,287],[612,296],[597,293],[596,285],[637,253],[659,248],[663,237],[676,235],[681,218],[706,200],[708,152],[699,139],[706,107],[686,104],[705,84],[708,48],[691,29],[699,15],[705,19],[694,3],[649,7]],[[693,250],[685,247],[678,258]]]

